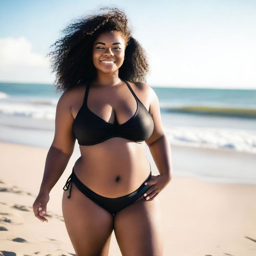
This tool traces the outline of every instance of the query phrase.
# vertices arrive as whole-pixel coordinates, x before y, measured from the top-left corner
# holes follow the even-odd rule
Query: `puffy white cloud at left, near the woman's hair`
[[[32,52],[32,45],[25,37],[0,38],[0,68],[48,67],[47,58]]]

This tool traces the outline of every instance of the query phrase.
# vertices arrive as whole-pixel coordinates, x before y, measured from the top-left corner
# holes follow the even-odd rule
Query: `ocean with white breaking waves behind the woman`
[[[171,146],[225,149],[256,159],[256,90],[152,88]],[[61,94],[52,84],[0,83],[0,141],[50,148]],[[223,176],[204,169],[199,176]],[[255,176],[250,182],[256,184],[256,164],[249,169],[226,174],[233,182]]]

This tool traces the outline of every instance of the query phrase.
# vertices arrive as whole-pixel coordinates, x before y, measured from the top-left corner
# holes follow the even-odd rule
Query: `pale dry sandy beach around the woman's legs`
[[[34,216],[32,204],[40,187],[48,150],[0,142],[0,151],[0,255],[75,255],[63,221],[61,199],[62,188],[79,152],[74,152],[50,192],[49,222],[42,223]],[[184,152],[185,148],[172,146],[174,159],[181,159]],[[201,156],[196,161],[210,165],[202,152]],[[255,155],[246,156],[247,162],[249,158],[251,164],[255,161]],[[243,157],[240,154],[240,158]],[[149,154],[148,159],[152,173],[157,175]],[[214,154],[212,159],[214,161]],[[171,182],[158,195],[164,256],[256,255],[256,185],[220,184],[176,176],[175,166]],[[109,255],[121,256],[114,232]]]

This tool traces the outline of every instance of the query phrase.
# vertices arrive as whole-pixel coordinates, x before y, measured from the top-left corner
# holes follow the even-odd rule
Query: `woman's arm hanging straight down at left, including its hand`
[[[76,142],[72,130],[74,118],[71,113],[70,104],[73,95],[71,90],[66,90],[58,101],[54,139],[46,156],[40,191],[33,204],[34,215],[42,222],[48,222],[44,214],[46,214],[49,193],[64,172],[74,151],[74,144]]]

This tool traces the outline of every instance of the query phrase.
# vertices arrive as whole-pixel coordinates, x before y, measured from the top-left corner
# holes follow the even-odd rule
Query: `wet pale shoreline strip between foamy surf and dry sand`
[[[3,140],[0,140],[1,143],[34,147],[46,150],[47,152],[50,148]],[[229,149],[198,148],[180,145],[171,145],[171,150],[172,169],[176,176],[220,184],[256,185],[256,154]],[[152,166],[152,172],[155,173],[154,175],[157,175],[159,172],[147,146],[146,154]],[[75,159],[75,162],[79,157],[80,149],[76,141],[70,162],[72,159]],[[186,161],[184,161],[184,158],[186,158]],[[199,161],[201,158],[202,161]],[[243,168],[243,172],[241,172],[241,168]]]

